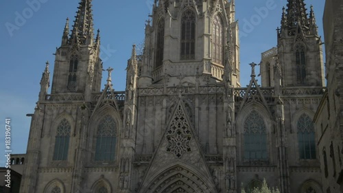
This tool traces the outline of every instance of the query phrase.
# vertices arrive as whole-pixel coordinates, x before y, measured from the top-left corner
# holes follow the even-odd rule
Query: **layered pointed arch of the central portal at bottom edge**
[[[202,180],[195,172],[180,166],[172,166],[147,185],[145,193],[205,193],[212,192],[206,181]]]

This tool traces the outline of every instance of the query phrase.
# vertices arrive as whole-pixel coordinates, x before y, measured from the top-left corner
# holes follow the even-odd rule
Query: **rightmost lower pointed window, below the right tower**
[[[300,159],[316,159],[316,142],[314,141],[314,124],[305,113],[298,123],[298,146]]]

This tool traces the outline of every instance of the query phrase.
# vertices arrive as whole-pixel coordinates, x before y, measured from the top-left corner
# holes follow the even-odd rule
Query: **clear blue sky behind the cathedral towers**
[[[5,118],[12,120],[13,153],[25,153],[29,124],[27,113],[34,113],[40,78],[45,62],[54,69],[54,53],[60,46],[65,19],[71,25],[79,0],[0,1],[0,152],[5,150]],[[154,0],[93,0],[95,30],[101,32],[104,69],[113,67],[113,84],[123,91],[126,65],[132,44],[143,42],[145,21]],[[314,10],[322,35],[324,0],[305,0]],[[250,80],[249,63],[259,63],[261,52],[276,46],[276,27],[280,26],[286,0],[236,0],[236,19],[240,27],[241,85]],[[267,10],[267,11],[265,11]],[[324,41],[324,40],[322,40]],[[106,74],[104,74],[106,76]],[[106,79],[104,78],[103,82]],[[51,82],[51,81],[50,81]],[[105,84],[105,83],[103,83]],[[0,156],[0,166],[5,159]]]

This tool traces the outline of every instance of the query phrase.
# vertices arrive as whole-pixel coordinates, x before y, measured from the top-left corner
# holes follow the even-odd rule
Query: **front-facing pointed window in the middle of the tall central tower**
[[[181,60],[196,58],[196,14],[186,10],[181,17]]]

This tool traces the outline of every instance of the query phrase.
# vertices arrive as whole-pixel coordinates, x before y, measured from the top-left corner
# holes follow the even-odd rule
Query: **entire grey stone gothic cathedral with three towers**
[[[154,0],[126,90],[101,91],[99,31],[81,0],[32,115],[21,192],[322,193],[312,119],[324,90],[314,12],[288,0],[278,45],[239,82],[235,1]],[[71,33],[69,34],[69,31]],[[108,76],[107,76],[108,73]]]

